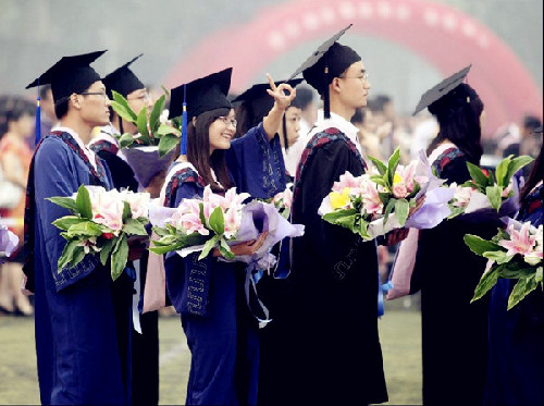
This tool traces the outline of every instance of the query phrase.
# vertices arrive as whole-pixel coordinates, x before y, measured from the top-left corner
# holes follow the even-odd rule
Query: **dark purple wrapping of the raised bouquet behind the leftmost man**
[[[170,167],[174,158],[174,151],[175,149],[172,149],[164,157],[159,158],[159,147],[145,146],[123,149],[126,161],[143,187],[149,186],[154,175]]]

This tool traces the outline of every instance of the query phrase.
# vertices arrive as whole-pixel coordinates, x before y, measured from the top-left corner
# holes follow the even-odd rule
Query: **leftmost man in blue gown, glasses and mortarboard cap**
[[[51,224],[69,210],[46,198],[82,185],[112,186],[102,160],[86,147],[109,122],[110,101],[89,64],[104,51],[64,57],[27,87],[51,84],[60,126],[36,148],[25,214],[26,287],[35,293],[36,355],[42,404],[126,404],[109,267],[86,256],[57,270],[65,245]],[[134,258],[131,248],[129,259]]]

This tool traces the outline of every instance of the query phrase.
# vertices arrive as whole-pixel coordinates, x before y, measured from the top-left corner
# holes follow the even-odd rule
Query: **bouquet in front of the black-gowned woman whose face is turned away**
[[[454,198],[449,201],[452,210],[449,218],[489,208],[498,212],[500,207],[515,205],[519,190],[514,174],[532,162],[533,158],[529,156],[512,157],[503,159],[497,164],[495,173],[467,162],[471,180],[462,185],[456,183],[449,185],[454,190]]]

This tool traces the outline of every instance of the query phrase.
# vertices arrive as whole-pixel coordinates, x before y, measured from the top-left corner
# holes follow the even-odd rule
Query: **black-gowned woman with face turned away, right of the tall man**
[[[416,109],[417,113],[428,107],[437,119],[440,133],[428,149],[429,161],[447,184],[469,181],[467,162],[478,165],[483,153],[484,104],[462,83],[469,69],[429,90]],[[477,405],[483,401],[489,302],[470,300],[485,261],[474,258],[463,235],[478,232],[491,237],[498,225],[496,210],[482,210],[422,230],[419,242],[416,237],[411,292],[421,288],[424,405]]]

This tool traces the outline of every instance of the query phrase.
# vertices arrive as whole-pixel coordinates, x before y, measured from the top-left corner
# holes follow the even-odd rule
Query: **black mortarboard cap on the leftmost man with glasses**
[[[82,93],[95,82],[100,81],[100,75],[89,64],[104,52],[106,50],[62,57],[26,88],[50,84],[54,101],[67,98],[73,93]]]

